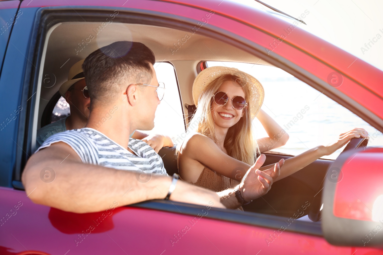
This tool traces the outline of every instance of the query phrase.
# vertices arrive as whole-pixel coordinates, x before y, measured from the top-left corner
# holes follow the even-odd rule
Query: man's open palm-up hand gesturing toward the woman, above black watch
[[[270,190],[273,181],[280,175],[280,167],[285,162],[284,159],[281,159],[273,167],[262,172],[259,168],[264,164],[265,160],[265,154],[261,154],[255,164],[246,172],[241,184],[239,184],[242,197],[246,201],[265,195]]]

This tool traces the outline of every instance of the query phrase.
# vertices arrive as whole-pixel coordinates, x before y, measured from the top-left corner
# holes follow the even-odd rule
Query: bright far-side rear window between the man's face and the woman
[[[181,135],[185,133],[185,124],[174,67],[170,63],[157,62],[154,64],[154,69],[157,80],[165,83],[165,94],[155,111],[154,128],[142,130],[142,132],[149,135],[156,133],[169,135],[177,144],[178,141],[183,140]]]

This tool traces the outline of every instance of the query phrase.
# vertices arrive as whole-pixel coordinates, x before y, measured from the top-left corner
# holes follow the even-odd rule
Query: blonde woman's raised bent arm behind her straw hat
[[[268,137],[257,139],[260,152],[269,151],[286,144],[289,135],[264,110],[260,110],[257,119],[265,128]]]

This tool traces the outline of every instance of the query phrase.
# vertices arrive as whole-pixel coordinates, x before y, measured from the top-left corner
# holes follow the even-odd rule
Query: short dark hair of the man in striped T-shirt
[[[155,57],[141,42],[119,41],[93,51],[82,64],[92,103],[114,101],[121,91],[137,82],[140,72],[152,71]]]

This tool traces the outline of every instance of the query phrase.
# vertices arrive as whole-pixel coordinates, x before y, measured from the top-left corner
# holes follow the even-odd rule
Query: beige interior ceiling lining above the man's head
[[[116,41],[142,42],[153,51],[156,62],[211,60],[271,65],[237,47],[197,33],[188,33],[191,36],[185,37],[186,32],[177,29],[117,22],[108,24],[105,29],[99,26],[100,22],[64,22],[56,24],[48,32],[43,73],[54,78],[55,84],[53,87],[50,84],[42,87],[43,99],[51,99],[61,84],[67,81],[69,69],[74,63]],[[90,34],[95,38],[91,39]]]

